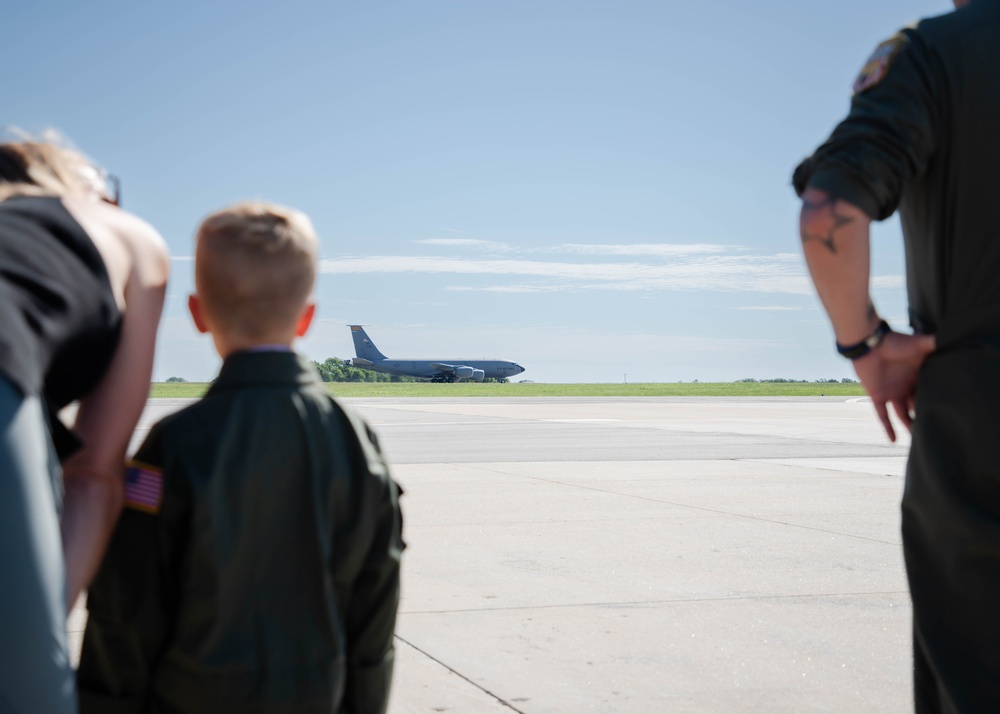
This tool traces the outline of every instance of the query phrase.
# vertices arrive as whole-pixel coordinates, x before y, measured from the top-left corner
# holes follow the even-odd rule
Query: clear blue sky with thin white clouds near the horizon
[[[264,198],[322,241],[313,359],[503,357],[548,382],[850,376],[795,164],[944,0],[18,3],[6,113],[122,180],[173,261],[154,378],[206,380],[192,236]],[[873,295],[906,323],[895,219]]]

